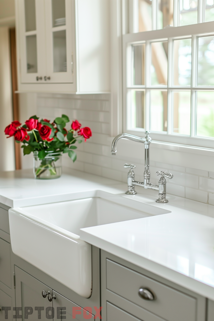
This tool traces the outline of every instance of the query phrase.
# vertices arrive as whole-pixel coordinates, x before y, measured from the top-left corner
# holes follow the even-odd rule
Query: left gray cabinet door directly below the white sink
[[[42,291],[46,293],[49,291],[52,295],[52,289],[17,266],[15,266],[15,281],[16,311],[13,314],[21,315],[22,320],[53,320],[53,304],[48,301],[47,296],[46,298],[42,296]]]

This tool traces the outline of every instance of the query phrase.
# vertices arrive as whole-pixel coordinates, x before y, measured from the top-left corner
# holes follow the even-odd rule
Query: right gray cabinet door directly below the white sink
[[[85,319],[94,319],[93,314],[84,311],[83,308],[66,299],[61,294],[53,291],[53,296],[54,295],[56,296],[56,299],[53,300],[54,321],[57,319],[75,319],[79,321],[84,321]]]

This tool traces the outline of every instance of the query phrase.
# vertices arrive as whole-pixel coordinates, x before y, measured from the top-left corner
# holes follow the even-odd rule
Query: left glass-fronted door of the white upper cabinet
[[[44,81],[46,74],[44,0],[18,0],[21,82]]]

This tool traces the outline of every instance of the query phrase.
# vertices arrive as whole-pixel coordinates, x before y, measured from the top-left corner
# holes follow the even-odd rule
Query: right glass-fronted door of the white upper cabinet
[[[71,0],[45,0],[46,82],[73,82]]]

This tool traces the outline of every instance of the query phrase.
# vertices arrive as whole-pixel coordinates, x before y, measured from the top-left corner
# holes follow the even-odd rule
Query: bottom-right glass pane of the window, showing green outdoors
[[[197,136],[214,137],[214,91],[197,91]]]

